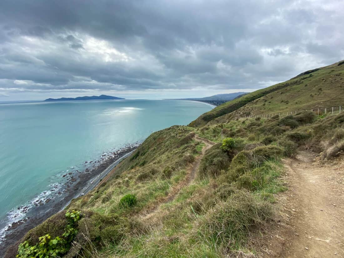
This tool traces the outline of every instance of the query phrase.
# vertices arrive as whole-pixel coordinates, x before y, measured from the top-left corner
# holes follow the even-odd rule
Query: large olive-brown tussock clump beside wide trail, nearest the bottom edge
[[[268,202],[257,200],[247,191],[236,190],[201,219],[197,238],[207,245],[238,250],[245,245],[252,226],[264,226],[272,217]]]

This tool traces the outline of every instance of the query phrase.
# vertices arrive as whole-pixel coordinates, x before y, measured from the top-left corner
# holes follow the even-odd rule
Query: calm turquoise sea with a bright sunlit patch
[[[127,143],[210,109],[185,100],[0,103],[0,230],[35,207],[44,213],[66,182]]]

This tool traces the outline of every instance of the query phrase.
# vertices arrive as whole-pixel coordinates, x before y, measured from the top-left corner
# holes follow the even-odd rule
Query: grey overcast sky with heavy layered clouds
[[[344,2],[0,1],[0,101],[253,91],[344,59]]]

